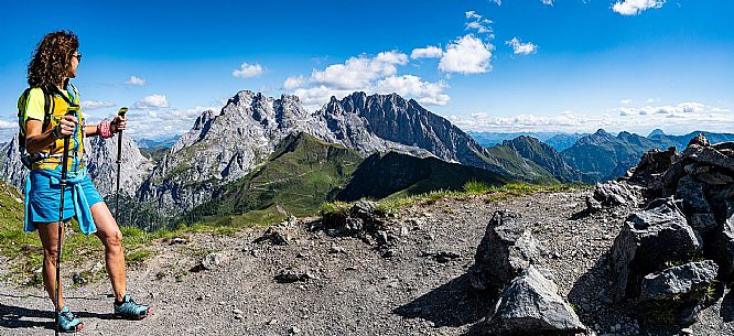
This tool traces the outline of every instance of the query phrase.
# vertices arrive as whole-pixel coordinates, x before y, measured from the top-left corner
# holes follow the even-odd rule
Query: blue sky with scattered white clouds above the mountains
[[[61,29],[80,39],[89,118],[128,106],[138,138],[182,133],[242,89],[311,109],[397,91],[474,131],[734,132],[734,1],[67,4],[3,6],[0,141],[35,44]]]

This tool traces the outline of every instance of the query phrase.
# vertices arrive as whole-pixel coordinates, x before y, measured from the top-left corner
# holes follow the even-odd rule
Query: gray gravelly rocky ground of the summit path
[[[591,193],[415,205],[390,219],[398,241],[387,253],[360,239],[312,231],[314,218],[292,226],[292,240],[282,246],[256,242],[263,229],[158,241],[158,254],[128,273],[129,292],[153,307],[140,322],[112,318],[107,280],[65,291],[86,335],[482,335],[494,301],[472,289],[466,271],[493,213],[506,208],[531,225],[544,248],[538,263],[554,274],[586,335],[734,335],[728,289],[683,326],[613,304],[607,259],[630,208],[587,213]],[[207,256],[209,269],[199,265]],[[295,281],[282,282],[289,279]],[[41,288],[6,284],[0,335],[50,335],[52,310]]]

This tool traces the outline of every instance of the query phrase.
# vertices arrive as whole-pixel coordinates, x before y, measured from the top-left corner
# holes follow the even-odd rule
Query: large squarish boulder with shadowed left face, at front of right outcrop
[[[701,237],[671,199],[630,214],[612,247],[612,294],[615,301],[639,295],[643,279],[666,264],[701,253]]]

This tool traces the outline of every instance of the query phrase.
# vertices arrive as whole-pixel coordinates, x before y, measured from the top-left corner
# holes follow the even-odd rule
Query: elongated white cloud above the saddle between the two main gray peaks
[[[382,52],[370,58],[365,55],[350,57],[344,64],[333,64],[324,71],[313,71],[311,82],[348,90],[369,86],[369,84],[381,77],[398,73],[398,65],[408,64],[408,55],[397,51]]]

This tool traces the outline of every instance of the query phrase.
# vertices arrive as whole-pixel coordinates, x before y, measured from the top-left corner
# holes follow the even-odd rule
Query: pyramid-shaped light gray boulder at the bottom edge
[[[500,336],[575,335],[586,329],[555,283],[532,265],[505,289],[486,326]]]

